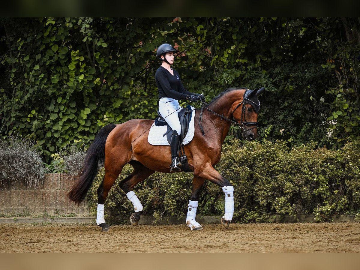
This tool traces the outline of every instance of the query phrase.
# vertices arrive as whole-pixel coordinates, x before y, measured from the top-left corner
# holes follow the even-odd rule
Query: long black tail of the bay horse
[[[106,139],[115,127],[115,124],[109,124],[100,129],[89,150],[87,150],[84,169],[81,172],[80,179],[68,193],[71,201],[77,204],[84,201],[86,193],[89,191],[98,172],[98,162],[104,162],[105,160]]]

